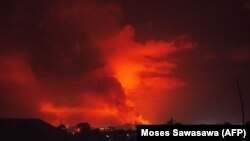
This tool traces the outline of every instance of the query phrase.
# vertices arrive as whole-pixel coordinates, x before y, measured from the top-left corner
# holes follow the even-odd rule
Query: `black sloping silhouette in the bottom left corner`
[[[72,136],[40,119],[0,119],[1,141],[69,141]]]

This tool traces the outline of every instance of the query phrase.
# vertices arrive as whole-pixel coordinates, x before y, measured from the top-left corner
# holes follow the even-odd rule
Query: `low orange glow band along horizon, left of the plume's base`
[[[40,111],[54,116],[54,119],[63,119],[67,123],[71,122],[72,116],[78,116],[82,121],[86,119],[93,126],[105,126],[111,124],[126,123],[149,123],[143,119],[141,115],[135,113],[133,104],[130,101],[124,105],[109,105],[106,101],[98,98],[87,98],[89,106],[55,106],[52,103],[43,102]],[[91,107],[91,108],[90,108]],[[105,122],[104,120],[107,119]],[[54,125],[58,124],[58,120],[51,121]]]

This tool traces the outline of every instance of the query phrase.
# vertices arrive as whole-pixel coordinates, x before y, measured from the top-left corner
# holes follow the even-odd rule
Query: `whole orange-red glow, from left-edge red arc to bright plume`
[[[22,56],[0,58],[0,65],[6,70],[0,79],[27,87],[34,97],[39,95],[36,102],[41,117],[54,125],[60,124],[61,119],[71,125],[76,124],[75,121],[90,122],[94,126],[151,123],[154,119],[145,117],[154,114],[159,107],[150,104],[145,95],[157,95],[159,98],[155,102],[158,103],[169,96],[166,91],[185,86],[171,76],[178,66],[167,57],[170,53],[191,49],[193,45],[188,43],[177,48],[174,41],[139,43],[133,39],[133,34],[133,28],[126,26],[97,42],[96,46],[101,47],[106,59],[105,68],[74,81],[80,86],[78,90],[69,89],[70,83],[51,85],[38,80],[29,60]]]

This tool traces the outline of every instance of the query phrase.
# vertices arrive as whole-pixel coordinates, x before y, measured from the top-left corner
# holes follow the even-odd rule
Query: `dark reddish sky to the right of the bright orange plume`
[[[164,121],[169,115],[174,115],[177,119],[190,123],[240,120],[235,78],[238,77],[241,84],[245,84],[244,101],[247,103],[250,38],[248,3],[248,0],[122,2],[125,11],[123,22],[134,25],[137,40],[172,40],[176,36],[187,34],[197,42],[195,50],[168,56],[168,61],[178,62],[174,75],[185,80],[189,86],[171,92],[176,95],[169,96],[162,104],[169,99],[174,102],[165,104],[167,106],[163,108],[163,113],[158,111],[162,115],[159,119]],[[162,60],[150,57],[151,60]],[[158,73],[157,75],[159,76]],[[182,103],[186,107],[174,103]],[[208,109],[211,107],[217,110],[209,113]],[[231,113],[235,113],[235,116]],[[195,116],[191,116],[192,114]],[[189,120],[187,115],[191,117]],[[249,118],[249,115],[246,117]]]

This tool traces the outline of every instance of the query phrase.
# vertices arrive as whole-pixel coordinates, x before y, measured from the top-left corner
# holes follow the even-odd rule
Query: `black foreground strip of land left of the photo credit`
[[[67,132],[39,119],[0,119],[1,141],[136,141],[135,130],[77,129]]]

